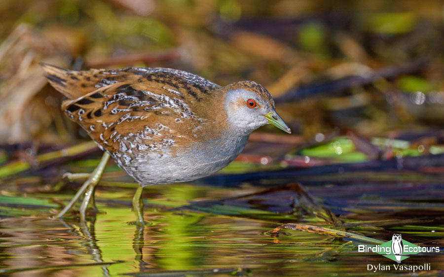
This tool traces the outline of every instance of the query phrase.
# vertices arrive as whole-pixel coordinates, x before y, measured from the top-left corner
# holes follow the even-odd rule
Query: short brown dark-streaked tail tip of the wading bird
[[[43,70],[45,70],[45,77],[48,79],[51,86],[53,86],[56,90],[61,92],[64,96],[68,97],[69,99],[74,99],[81,94],[76,95],[74,94],[75,91],[68,91],[67,90],[67,80],[70,75],[75,75],[77,71],[71,71],[68,69],[62,69],[56,66],[52,66],[49,64],[40,64]]]

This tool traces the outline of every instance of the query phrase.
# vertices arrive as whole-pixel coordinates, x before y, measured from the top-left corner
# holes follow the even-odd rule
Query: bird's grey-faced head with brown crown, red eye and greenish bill
[[[236,82],[225,87],[225,109],[228,122],[240,132],[251,133],[267,123],[291,133],[276,113],[270,93],[252,81]]]

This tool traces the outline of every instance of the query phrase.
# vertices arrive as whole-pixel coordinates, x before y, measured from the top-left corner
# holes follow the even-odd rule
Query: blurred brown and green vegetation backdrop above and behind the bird
[[[1,143],[87,137],[39,62],[254,80],[304,139],[444,123],[439,0],[6,0],[0,16]]]

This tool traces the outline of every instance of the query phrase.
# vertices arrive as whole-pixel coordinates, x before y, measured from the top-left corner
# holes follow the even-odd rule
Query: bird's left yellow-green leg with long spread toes
[[[108,160],[110,159],[110,154],[105,152],[102,156],[102,159],[100,160],[99,165],[97,168],[89,175],[89,178],[83,183],[83,185],[80,187],[80,189],[77,191],[77,193],[74,195],[73,199],[71,199],[71,202],[59,213],[57,214],[57,218],[60,218],[65,215],[65,213],[73,208],[75,202],[80,197],[80,195],[85,192],[86,189],[88,189],[85,192],[85,197],[83,198],[82,205],[80,206],[80,220],[85,220],[85,214],[86,214],[86,208],[88,208],[88,204],[92,203],[94,204],[94,189],[96,185],[99,183],[100,178],[102,177],[102,173],[105,170],[105,167],[108,163]],[[92,198],[92,199],[91,199]]]

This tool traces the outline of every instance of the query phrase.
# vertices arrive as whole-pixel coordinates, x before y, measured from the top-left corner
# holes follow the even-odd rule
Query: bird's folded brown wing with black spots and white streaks
[[[68,116],[111,155],[157,151],[189,142],[201,118],[169,85],[118,82],[62,104]],[[177,137],[177,134],[181,134]],[[114,156],[114,155],[113,155]],[[118,157],[117,157],[118,158]]]

